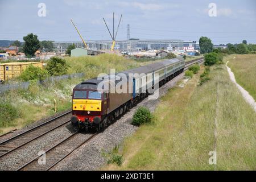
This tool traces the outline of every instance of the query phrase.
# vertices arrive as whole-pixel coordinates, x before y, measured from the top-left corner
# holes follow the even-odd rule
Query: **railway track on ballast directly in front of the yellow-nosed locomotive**
[[[71,155],[77,148],[81,147],[86,142],[89,142],[89,140],[94,138],[97,134],[98,133],[90,134],[89,137],[84,139],[84,135],[77,131],[45,151],[45,163],[39,163],[38,159],[44,155],[42,154],[18,168],[17,171],[48,171],[63,159],[67,158],[67,156]]]

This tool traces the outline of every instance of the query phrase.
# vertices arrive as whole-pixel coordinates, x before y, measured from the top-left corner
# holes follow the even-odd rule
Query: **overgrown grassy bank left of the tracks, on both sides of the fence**
[[[0,108],[0,134],[54,114],[53,98],[57,103],[57,112],[70,109],[72,89],[82,80],[97,77],[99,73],[109,73],[110,68],[115,68],[118,72],[139,67],[142,64],[121,56],[108,54],[67,57],[65,59],[70,65],[68,74],[84,72],[85,77],[57,81],[46,85],[31,84],[28,90],[13,90],[2,94],[0,106],[7,106]]]

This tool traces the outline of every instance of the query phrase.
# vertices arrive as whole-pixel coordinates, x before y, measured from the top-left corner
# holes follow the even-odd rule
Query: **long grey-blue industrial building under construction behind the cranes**
[[[105,50],[110,49],[112,46],[112,40],[90,40],[86,41],[89,49],[91,50]],[[82,41],[79,42],[53,42],[53,50],[56,52],[65,52],[68,46],[75,44],[76,48],[84,47]],[[195,41],[183,41],[183,40],[116,40],[115,49],[123,52],[137,52],[151,49],[166,49],[182,50],[183,47],[194,47],[196,49]]]

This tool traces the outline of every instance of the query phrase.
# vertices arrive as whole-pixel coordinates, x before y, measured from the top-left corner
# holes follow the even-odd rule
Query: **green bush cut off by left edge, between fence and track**
[[[0,127],[8,127],[19,117],[18,110],[7,101],[0,101]]]

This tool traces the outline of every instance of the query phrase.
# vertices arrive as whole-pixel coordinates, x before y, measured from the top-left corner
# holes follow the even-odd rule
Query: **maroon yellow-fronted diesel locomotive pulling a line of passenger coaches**
[[[177,57],[114,75],[127,79],[119,78],[111,82],[106,78],[111,80],[113,75],[107,75],[83,81],[73,88],[71,123],[86,131],[101,130],[152,94],[156,86],[160,87],[179,75],[184,68],[185,60]],[[106,86],[102,86],[104,81],[108,83]],[[121,81],[128,86],[122,88],[122,84],[119,84]],[[127,92],[112,92],[117,86]]]

